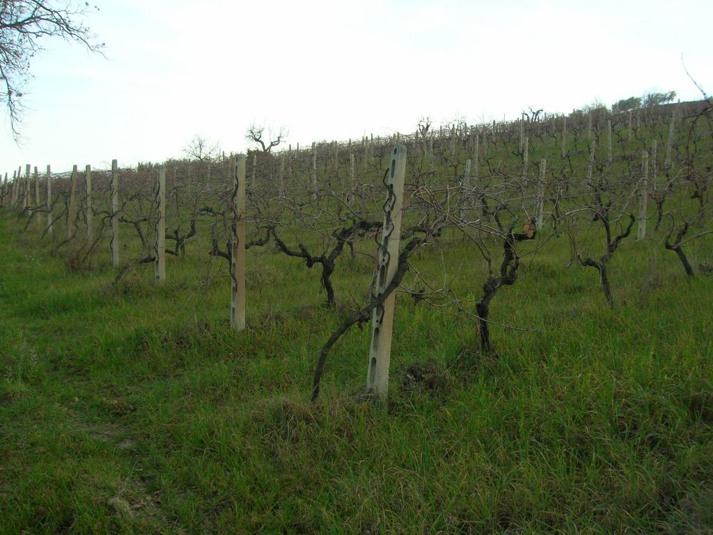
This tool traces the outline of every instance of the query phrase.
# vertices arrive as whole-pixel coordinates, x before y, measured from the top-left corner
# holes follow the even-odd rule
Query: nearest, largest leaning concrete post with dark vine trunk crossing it
[[[399,266],[399,242],[401,240],[401,208],[404,202],[404,178],[406,177],[406,147],[397,145],[391,151],[391,168],[386,185],[389,188],[384,204],[384,228],[379,244],[379,264],[376,278],[376,297],[383,295],[394,278]],[[379,399],[386,399],[389,389],[389,360],[391,359],[391,335],[394,328],[394,303],[396,292],[391,292],[383,303],[374,309],[371,321],[371,345],[369,346],[369,371],[366,374],[366,392]]]

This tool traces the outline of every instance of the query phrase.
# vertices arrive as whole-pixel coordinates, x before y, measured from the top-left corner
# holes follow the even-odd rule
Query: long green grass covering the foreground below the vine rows
[[[713,529],[713,277],[687,280],[660,235],[612,259],[613,310],[594,270],[566,267],[565,237],[523,260],[492,319],[531,331],[493,327],[497,359],[472,320],[399,296],[381,406],[359,398],[369,329],[307,401],[340,316],[319,268],[249,251],[235,335],[227,280],[202,277],[219,260],[169,258],[163,288],[143,266],[107,295],[106,260],[73,272],[20,228],[0,218],[2,533]],[[442,253],[478,297],[477,253]],[[371,277],[347,257],[342,303]]]

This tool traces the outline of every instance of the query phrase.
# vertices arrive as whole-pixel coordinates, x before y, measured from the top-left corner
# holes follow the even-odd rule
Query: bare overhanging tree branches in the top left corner
[[[0,98],[16,141],[20,138],[21,99],[31,78],[31,58],[43,51],[41,39],[60,37],[101,54],[103,44],[83,19],[88,2],[52,0],[3,0],[0,2]],[[94,6],[93,9],[98,9]]]

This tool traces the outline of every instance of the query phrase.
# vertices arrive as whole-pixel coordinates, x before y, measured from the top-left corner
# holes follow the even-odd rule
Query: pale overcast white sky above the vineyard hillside
[[[253,121],[289,143],[566,112],[657,89],[713,92],[713,1],[95,0],[106,55],[46,42],[0,170],[180,157],[196,134],[244,151]],[[4,111],[3,111],[4,113]]]

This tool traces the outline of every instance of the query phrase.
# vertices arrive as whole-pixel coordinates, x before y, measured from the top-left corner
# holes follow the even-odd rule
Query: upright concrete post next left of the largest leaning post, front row
[[[230,236],[230,327],[245,330],[245,155],[232,161]]]

